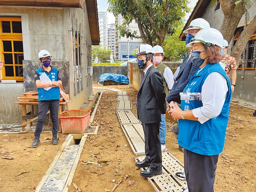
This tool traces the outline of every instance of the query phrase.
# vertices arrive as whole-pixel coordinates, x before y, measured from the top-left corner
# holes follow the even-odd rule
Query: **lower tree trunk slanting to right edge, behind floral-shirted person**
[[[240,37],[236,41],[236,44],[231,52],[231,56],[236,58],[236,62],[239,66],[239,64],[242,64],[241,55],[245,49],[245,46],[251,36],[256,31],[256,16],[254,19],[247,25],[247,27],[242,31]]]

